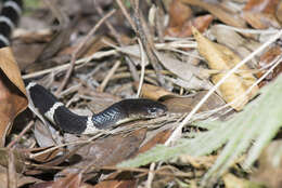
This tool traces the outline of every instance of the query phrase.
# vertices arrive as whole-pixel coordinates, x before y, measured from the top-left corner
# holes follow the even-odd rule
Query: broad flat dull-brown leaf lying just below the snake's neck
[[[65,175],[69,174],[69,172],[77,173],[78,169],[87,166],[101,167],[115,165],[138,151],[145,134],[146,130],[140,129],[126,136],[120,134],[91,142],[82,147],[77,146],[79,148],[73,148],[73,150],[76,150],[76,155],[80,156],[81,159],[76,161],[77,163],[74,166],[65,169],[61,174]]]

